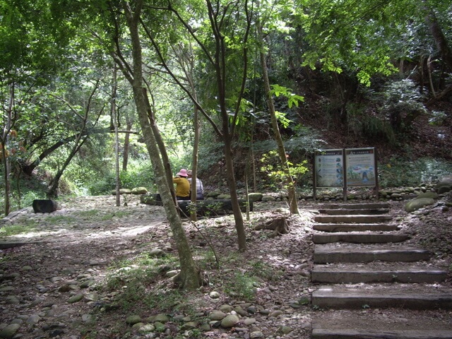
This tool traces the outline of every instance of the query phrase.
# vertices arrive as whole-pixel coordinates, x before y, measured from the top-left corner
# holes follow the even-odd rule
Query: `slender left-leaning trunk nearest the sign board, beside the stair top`
[[[264,42],[264,37],[262,33],[262,27],[260,23],[257,23],[258,35],[261,42]],[[285,153],[283,138],[281,138],[280,129],[278,127],[278,120],[276,119],[275,114],[275,105],[273,105],[273,98],[271,96],[270,91],[270,82],[268,81],[268,73],[267,73],[267,63],[266,63],[266,54],[261,52],[261,65],[262,65],[262,78],[263,78],[263,88],[266,92],[267,96],[267,105],[268,111],[270,112],[270,120],[271,126],[273,129],[273,134],[275,136],[276,144],[278,145],[278,155],[280,156],[281,165],[283,166],[283,171],[285,173],[286,184],[287,184],[287,194],[289,196],[289,208],[290,213],[299,214],[298,210],[298,199],[297,193],[295,191],[295,182],[290,175],[289,165],[287,164],[287,157]]]

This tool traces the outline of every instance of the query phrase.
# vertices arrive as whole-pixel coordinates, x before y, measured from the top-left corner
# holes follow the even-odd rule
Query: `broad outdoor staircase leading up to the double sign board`
[[[451,319],[452,291],[441,285],[448,272],[409,244],[389,208],[343,203],[319,210],[311,302],[322,311],[313,315],[311,338],[452,338],[452,322],[441,319],[441,312]]]

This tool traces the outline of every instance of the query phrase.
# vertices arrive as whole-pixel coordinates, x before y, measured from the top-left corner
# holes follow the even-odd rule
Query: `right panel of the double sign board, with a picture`
[[[374,148],[345,150],[347,186],[375,186]]]

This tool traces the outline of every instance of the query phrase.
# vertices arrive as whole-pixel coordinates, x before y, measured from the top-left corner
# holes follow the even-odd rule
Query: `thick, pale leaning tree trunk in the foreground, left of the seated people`
[[[177,252],[179,254],[181,272],[179,274],[178,282],[182,285],[182,287],[194,290],[201,286],[200,271],[193,260],[189,242],[186,238],[184,227],[182,227],[182,220],[179,217],[179,213],[177,213],[176,206],[174,205],[174,199],[172,197],[171,190],[169,189],[169,185],[171,184],[172,186],[172,182],[168,182],[167,175],[165,174],[165,169],[160,158],[159,148],[157,147],[157,140],[153,133],[153,129],[150,126],[148,103],[146,102],[147,99],[145,98],[145,91],[143,91],[143,61],[140,35],[138,33],[138,23],[141,15],[141,8],[143,6],[143,0],[136,1],[136,8],[134,8],[134,11],[130,8],[129,3],[124,2],[123,4],[131,35],[133,58],[133,81],[131,82],[131,85],[133,88],[133,98],[138,112],[138,119],[143,130],[143,137],[148,148],[150,159],[153,163],[155,181],[160,191],[162,203],[165,208],[169,225],[171,226],[171,230],[173,232],[174,241],[176,242]]]

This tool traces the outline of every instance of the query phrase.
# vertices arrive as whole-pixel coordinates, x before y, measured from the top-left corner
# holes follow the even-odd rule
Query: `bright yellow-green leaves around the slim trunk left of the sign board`
[[[261,156],[261,172],[268,175],[270,179],[270,185],[276,189],[283,189],[286,185],[286,172],[283,169],[278,152],[270,150]],[[294,165],[292,162],[287,161],[289,166],[289,174],[292,176],[294,182],[302,180],[303,175],[308,171],[307,160],[303,160]]]

